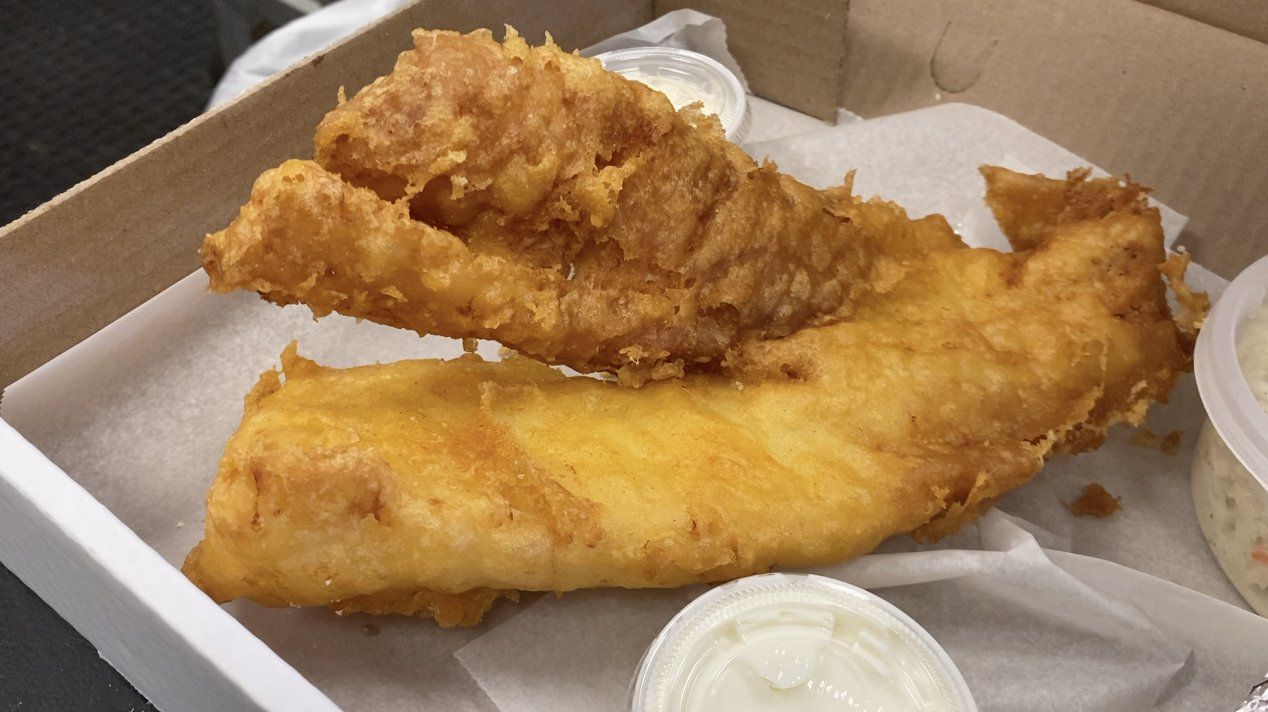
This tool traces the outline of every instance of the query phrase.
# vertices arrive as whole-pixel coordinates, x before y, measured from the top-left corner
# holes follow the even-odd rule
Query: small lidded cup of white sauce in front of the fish
[[[639,663],[631,712],[976,712],[941,646],[907,614],[824,576],[763,574],[716,587]]]

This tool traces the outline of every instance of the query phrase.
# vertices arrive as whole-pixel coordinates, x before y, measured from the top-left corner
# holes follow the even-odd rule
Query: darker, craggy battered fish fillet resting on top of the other
[[[867,284],[841,191],[758,166],[716,118],[514,32],[413,39],[322,120],[317,165],[265,174],[207,238],[213,289],[645,378],[838,318]]]

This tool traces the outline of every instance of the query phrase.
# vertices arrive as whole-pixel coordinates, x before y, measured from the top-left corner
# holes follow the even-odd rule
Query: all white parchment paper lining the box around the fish
[[[978,165],[1052,175],[1087,165],[964,105],[825,127],[758,99],[749,137],[761,139],[748,146],[754,156],[801,180],[829,185],[857,168],[858,193],[943,213],[990,246],[1002,236],[981,205]],[[1164,215],[1170,243],[1184,219]],[[460,352],[449,340],[212,295],[198,272],[10,386],[0,416],[179,565],[200,536],[241,399],[292,338],[332,365]],[[1182,433],[1179,452],[1116,432],[1093,454],[1052,461],[937,546],[895,537],[819,573],[876,590],[927,627],[984,711],[1231,709],[1268,669],[1268,621],[1245,611],[1193,517],[1188,464],[1202,418],[1186,378],[1150,418],[1159,435]],[[1071,517],[1061,502],[1089,481],[1125,511]],[[530,595],[465,631],[250,603],[230,611],[349,709],[602,712],[621,709],[644,647],[700,590]]]

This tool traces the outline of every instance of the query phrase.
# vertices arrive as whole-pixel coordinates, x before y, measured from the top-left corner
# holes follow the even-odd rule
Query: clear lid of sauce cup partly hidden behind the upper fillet
[[[661,91],[675,109],[702,103],[705,114],[718,115],[728,139],[743,139],[748,98],[739,79],[716,60],[677,47],[631,47],[595,58],[609,71]]]

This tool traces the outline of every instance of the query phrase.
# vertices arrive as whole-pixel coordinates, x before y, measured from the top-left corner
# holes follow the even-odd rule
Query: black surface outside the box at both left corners
[[[198,115],[207,0],[0,0],[0,224]],[[0,566],[0,711],[153,709]]]

